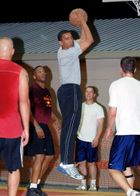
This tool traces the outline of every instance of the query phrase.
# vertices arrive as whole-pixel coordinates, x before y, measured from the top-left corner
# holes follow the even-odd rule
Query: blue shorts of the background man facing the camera
[[[89,163],[98,161],[98,147],[93,148],[91,142],[76,140],[76,162],[87,161]]]

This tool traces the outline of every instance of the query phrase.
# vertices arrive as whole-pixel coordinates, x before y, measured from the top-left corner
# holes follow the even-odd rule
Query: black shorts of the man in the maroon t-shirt
[[[35,156],[36,154],[54,155],[54,144],[49,127],[45,124],[40,124],[44,130],[45,138],[40,139],[37,136],[34,126],[30,125],[29,143],[25,146],[24,154]]]

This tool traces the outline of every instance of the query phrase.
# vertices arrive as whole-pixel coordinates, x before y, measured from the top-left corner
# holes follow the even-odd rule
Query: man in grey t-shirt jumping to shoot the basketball
[[[61,163],[57,169],[65,175],[80,180],[83,176],[74,165],[75,140],[82,107],[79,55],[93,43],[93,37],[84,17],[78,12],[77,15],[81,28],[80,39],[74,41],[69,30],[62,30],[58,34],[60,48],[57,58],[61,86],[57,96],[62,114],[62,130],[60,135]]]

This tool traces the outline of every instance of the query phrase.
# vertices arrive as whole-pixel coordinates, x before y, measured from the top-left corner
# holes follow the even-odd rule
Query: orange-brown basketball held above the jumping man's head
[[[80,26],[80,20],[78,17],[79,14],[81,14],[85,22],[87,22],[88,15],[86,11],[83,10],[82,8],[77,8],[77,9],[72,10],[69,14],[69,21],[73,26]]]

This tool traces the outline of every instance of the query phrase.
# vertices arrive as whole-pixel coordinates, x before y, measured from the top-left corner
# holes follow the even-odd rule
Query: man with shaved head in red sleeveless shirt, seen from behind
[[[8,170],[9,196],[17,195],[30,116],[28,74],[11,60],[13,54],[12,39],[0,38],[0,157]]]

